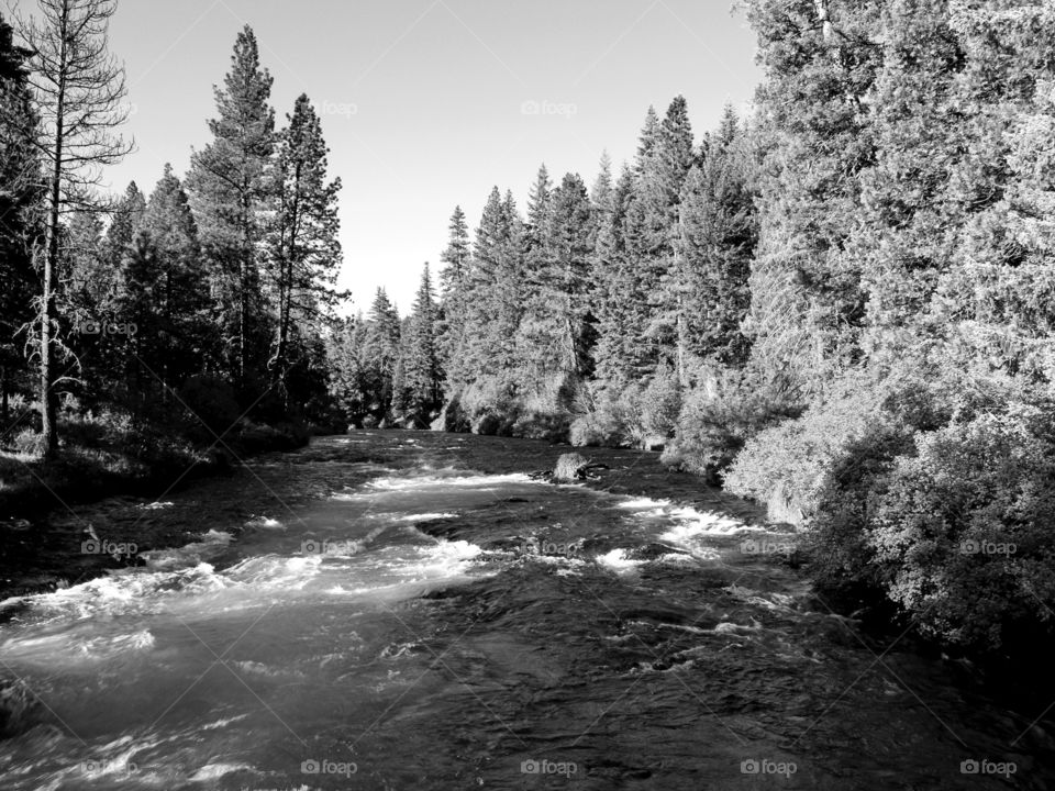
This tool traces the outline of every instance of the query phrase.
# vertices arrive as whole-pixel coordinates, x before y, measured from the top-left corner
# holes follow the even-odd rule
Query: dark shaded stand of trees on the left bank
[[[240,415],[325,420],[325,338],[347,294],[318,112],[302,94],[276,122],[246,26],[189,172],[166,166],[148,194],[104,194],[104,168],[133,147],[108,51],[115,9],[40,0],[0,19],[5,439],[36,416],[52,455],[62,414],[102,409],[164,423],[187,408],[216,432]]]

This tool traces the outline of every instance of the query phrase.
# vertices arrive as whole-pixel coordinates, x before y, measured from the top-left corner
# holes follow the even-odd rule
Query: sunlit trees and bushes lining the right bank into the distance
[[[1055,606],[1055,11],[745,8],[754,111],[697,142],[678,97],[589,189],[456,210],[442,398],[398,399],[379,297],[349,414],[662,445],[809,528],[833,601],[1021,658]]]

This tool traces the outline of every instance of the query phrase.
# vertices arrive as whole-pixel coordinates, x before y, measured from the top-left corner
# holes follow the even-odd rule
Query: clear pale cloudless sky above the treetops
[[[356,309],[378,286],[409,309],[455,204],[473,227],[493,185],[523,208],[543,161],[592,183],[602,151],[617,170],[633,156],[649,104],[682,93],[699,138],[759,79],[730,0],[121,0],[111,47],[138,149],[115,190],[149,193],[166,161],[186,172],[245,23],[279,121],[301,92],[323,114]]]

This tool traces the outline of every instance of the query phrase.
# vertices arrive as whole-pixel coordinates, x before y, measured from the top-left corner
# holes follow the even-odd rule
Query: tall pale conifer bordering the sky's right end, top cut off
[[[752,0],[748,9],[766,68],[752,354],[802,393],[860,356],[865,293],[848,248],[859,177],[875,157],[869,107],[887,2]]]

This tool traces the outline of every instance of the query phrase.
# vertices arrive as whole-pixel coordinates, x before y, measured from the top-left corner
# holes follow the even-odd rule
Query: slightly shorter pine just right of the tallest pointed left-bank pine
[[[319,115],[308,97],[297,99],[289,126],[279,136],[278,212],[269,260],[277,307],[277,339],[270,360],[275,383],[288,403],[289,370],[298,336],[320,331],[336,303],[347,297],[335,289],[341,269],[337,193],[341,180],[326,180],[329,147]]]

